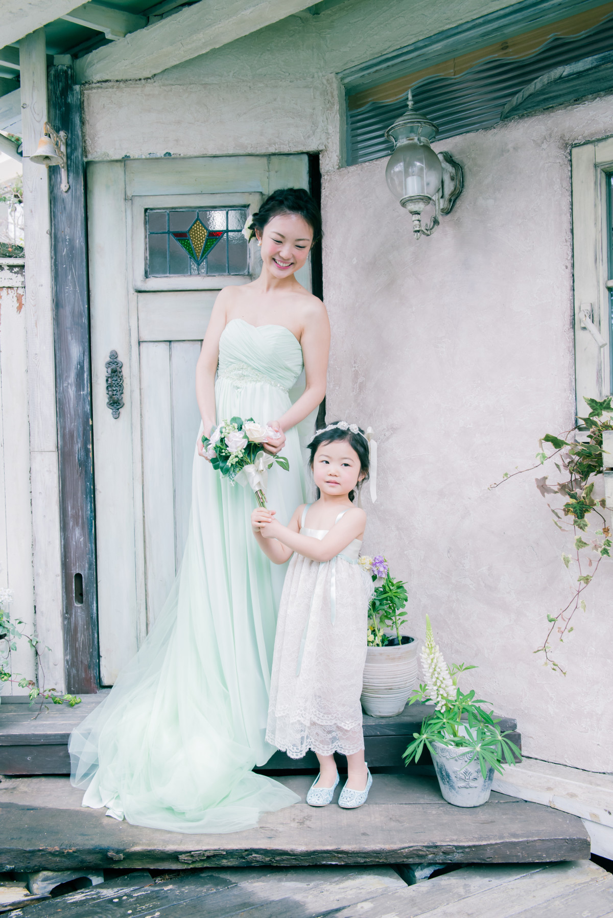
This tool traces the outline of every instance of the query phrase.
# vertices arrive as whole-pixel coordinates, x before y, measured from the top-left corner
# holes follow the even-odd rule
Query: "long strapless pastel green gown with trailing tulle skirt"
[[[260,423],[290,406],[303,369],[291,331],[242,319],[219,342],[217,419]],[[287,522],[305,500],[298,433],[288,431],[290,470],[273,465],[268,506]],[[276,613],[285,565],[251,535],[249,487],[194,459],[184,559],[158,621],[106,700],[71,735],[72,784],[84,806],[175,832],[233,832],[298,798],[254,774],[266,742]]]

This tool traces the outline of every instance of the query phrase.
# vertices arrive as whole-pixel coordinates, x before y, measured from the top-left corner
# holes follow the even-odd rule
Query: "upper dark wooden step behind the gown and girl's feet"
[[[71,731],[82,722],[90,711],[100,704],[109,689],[97,695],[83,695],[82,702],[74,708],[67,705],[49,704],[48,710],[39,706],[30,708],[26,700],[6,700],[0,704],[0,775],[68,775],[71,764],[68,755],[68,739]],[[14,697],[15,698],[15,697]],[[370,767],[399,767],[402,755],[413,740],[413,733],[420,729],[421,722],[434,710],[432,705],[408,705],[397,717],[369,717],[364,714],[364,746],[366,761]],[[517,721],[503,717],[500,729],[511,731],[509,739],[521,748],[521,736],[517,732]],[[338,756],[339,766],[346,767],[343,756]],[[421,767],[430,765],[428,750],[420,759]],[[260,770],[275,775],[293,770],[318,770],[314,753],[295,759],[284,752],[276,752]]]

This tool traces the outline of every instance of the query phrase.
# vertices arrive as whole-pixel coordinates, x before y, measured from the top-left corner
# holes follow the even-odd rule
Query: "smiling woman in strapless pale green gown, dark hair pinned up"
[[[265,732],[284,568],[251,535],[251,489],[213,470],[201,438],[235,415],[268,421],[278,437],[265,448],[283,449],[290,465],[269,473],[270,505],[286,523],[304,502],[295,425],[325,394],[329,321],[294,275],[321,218],[306,191],[286,188],[266,199],[251,226],[262,274],[219,293],[196,369],[202,426],[181,571],[138,655],[69,744],[84,806],[176,832],[249,828],[261,812],[298,800],[251,770],[274,751]],[[306,388],[292,405],[288,389],[303,366]]]

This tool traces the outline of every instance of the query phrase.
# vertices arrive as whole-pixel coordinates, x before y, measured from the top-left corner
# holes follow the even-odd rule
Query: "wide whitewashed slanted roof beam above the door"
[[[76,62],[81,83],[143,79],[291,16],[307,0],[200,0]]]

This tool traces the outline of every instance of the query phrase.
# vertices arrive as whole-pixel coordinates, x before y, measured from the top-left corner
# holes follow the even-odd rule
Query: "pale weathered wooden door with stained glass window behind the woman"
[[[200,344],[221,287],[258,272],[240,226],[275,188],[308,186],[307,158],[93,162],[87,185],[100,671],[112,685],[181,563]],[[310,288],[308,266],[299,279]]]

